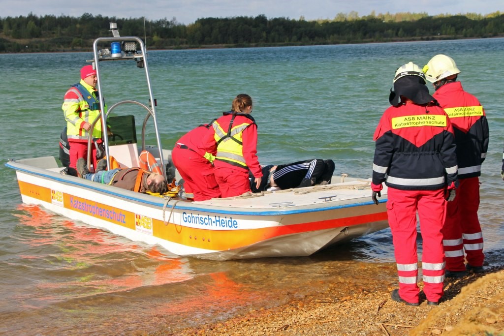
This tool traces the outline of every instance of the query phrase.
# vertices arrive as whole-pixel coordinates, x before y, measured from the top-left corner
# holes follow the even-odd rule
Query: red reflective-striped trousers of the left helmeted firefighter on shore
[[[397,262],[399,295],[407,302],[419,301],[417,212],[422,235],[423,291],[429,301],[437,302],[443,296],[445,254],[441,229],[446,203],[444,190],[399,190],[389,187],[387,215]]]

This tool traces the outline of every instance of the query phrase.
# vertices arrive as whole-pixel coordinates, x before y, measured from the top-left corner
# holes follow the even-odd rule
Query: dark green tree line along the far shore
[[[348,44],[401,40],[486,38],[504,35],[504,14],[428,16],[427,13],[339,13],[334,19],[256,17],[202,18],[183,25],[175,18],[146,20],[116,18],[28,16],[0,17],[0,52],[88,51],[97,37],[111,36],[116,22],[121,36],[145,38],[149,49],[208,46],[282,46]]]

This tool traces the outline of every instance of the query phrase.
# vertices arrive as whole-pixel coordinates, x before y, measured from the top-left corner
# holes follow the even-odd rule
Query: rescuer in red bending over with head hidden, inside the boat
[[[214,142],[213,131],[210,131],[214,121],[185,133],[171,152],[173,164],[184,179],[187,198],[206,200],[221,196],[212,165],[216,147],[212,148],[212,153],[205,149],[208,142]]]

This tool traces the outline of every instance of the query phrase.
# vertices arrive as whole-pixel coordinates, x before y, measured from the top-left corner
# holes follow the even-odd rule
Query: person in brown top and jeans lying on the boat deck
[[[107,169],[107,160],[102,159],[98,162],[95,173],[89,172],[83,158],[77,160],[77,173],[87,180],[137,192],[150,191],[163,194],[168,191],[166,179],[161,174],[141,168],[105,169]]]

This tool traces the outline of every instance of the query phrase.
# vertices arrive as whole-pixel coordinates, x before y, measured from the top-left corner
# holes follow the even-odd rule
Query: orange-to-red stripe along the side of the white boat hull
[[[61,198],[62,194],[62,199],[64,200],[62,202],[62,205],[64,205],[65,208],[82,214],[87,214],[101,220],[132,229],[134,231],[137,231],[136,216],[144,216],[149,218],[149,216],[147,215],[135,214],[127,210],[117,209],[93,200],[88,200],[86,198],[81,198],[62,192],[54,192],[54,190],[51,190],[49,188],[41,187],[23,181],[19,181],[19,187],[22,194],[40,199],[42,201],[46,201],[47,203],[55,203],[53,201],[54,197],[57,197],[57,200],[60,201],[59,198]],[[374,211],[374,207],[376,206],[370,205],[369,207],[372,207],[369,209],[372,209]],[[343,212],[342,215],[344,214],[348,213]],[[282,218],[282,220],[285,220],[285,218],[291,216],[296,216],[296,221],[302,221],[302,217],[305,216],[305,221],[300,224],[276,225],[272,227],[257,229],[208,230],[192,228],[173,223],[164,223],[161,220],[153,218],[152,234],[157,238],[185,246],[214,251],[223,251],[253,245],[261,241],[284,235],[321,231],[332,228],[343,229],[345,227],[353,225],[385,221],[387,220],[387,211],[384,210],[378,213],[310,222],[307,222],[307,220],[313,218],[313,214],[292,214],[286,216],[287,217]],[[271,221],[270,216],[264,217],[265,220],[267,220],[267,218]]]

